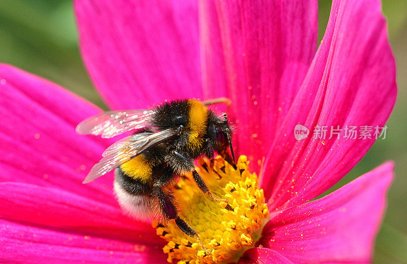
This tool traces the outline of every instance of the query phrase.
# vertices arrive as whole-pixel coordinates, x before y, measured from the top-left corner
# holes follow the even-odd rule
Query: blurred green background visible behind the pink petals
[[[319,40],[330,8],[330,1],[319,1]],[[396,179],[376,239],[374,263],[407,263],[407,1],[384,0],[383,12],[396,57],[398,84],[397,103],[387,123],[387,138],[377,140],[356,168],[329,192],[385,160],[395,160]],[[83,67],[77,43],[70,0],[0,0],[0,62],[40,75],[106,109]]]

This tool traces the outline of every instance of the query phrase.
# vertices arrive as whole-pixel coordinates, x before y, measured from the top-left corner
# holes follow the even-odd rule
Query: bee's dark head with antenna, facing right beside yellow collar
[[[226,114],[222,117],[217,117],[214,121],[209,129],[209,136],[214,143],[214,150],[224,156],[227,148],[230,148],[232,159],[235,163],[235,153],[231,142],[231,128],[227,122]]]

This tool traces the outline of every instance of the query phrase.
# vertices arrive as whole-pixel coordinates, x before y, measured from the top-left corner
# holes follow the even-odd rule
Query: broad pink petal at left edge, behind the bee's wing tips
[[[81,183],[109,142],[75,127],[99,112],[60,86],[0,65],[0,182],[53,186],[116,205],[111,176]]]

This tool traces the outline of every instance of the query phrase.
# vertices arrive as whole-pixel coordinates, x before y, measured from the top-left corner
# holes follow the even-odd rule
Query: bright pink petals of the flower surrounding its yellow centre
[[[97,89],[112,109],[231,99],[237,152],[255,165],[266,157],[261,187],[275,215],[264,248],[239,263],[370,262],[393,164],[306,203],[349,172],[374,138],[297,141],[294,126],[384,126],[396,84],[380,2],[334,1],[316,53],[316,1],[213,2],[77,1],[80,47]],[[151,225],[122,214],[111,174],[81,183],[112,143],[75,133],[100,109],[8,65],[0,67],[0,102],[3,262],[166,262]]]

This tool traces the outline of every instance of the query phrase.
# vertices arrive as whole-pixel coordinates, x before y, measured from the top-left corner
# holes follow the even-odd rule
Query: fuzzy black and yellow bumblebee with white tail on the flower
[[[185,234],[199,241],[195,229],[179,217],[176,197],[170,190],[179,176],[192,172],[203,193],[224,201],[214,197],[194,165],[198,157],[213,159],[214,152],[235,164],[227,116],[207,107],[222,102],[227,99],[203,103],[177,100],[151,110],[108,111],[82,121],[76,127],[79,134],[111,138],[135,131],[108,147],[83,183],[115,169],[114,191],[124,211],[138,219],[156,218],[163,224],[174,220]]]

